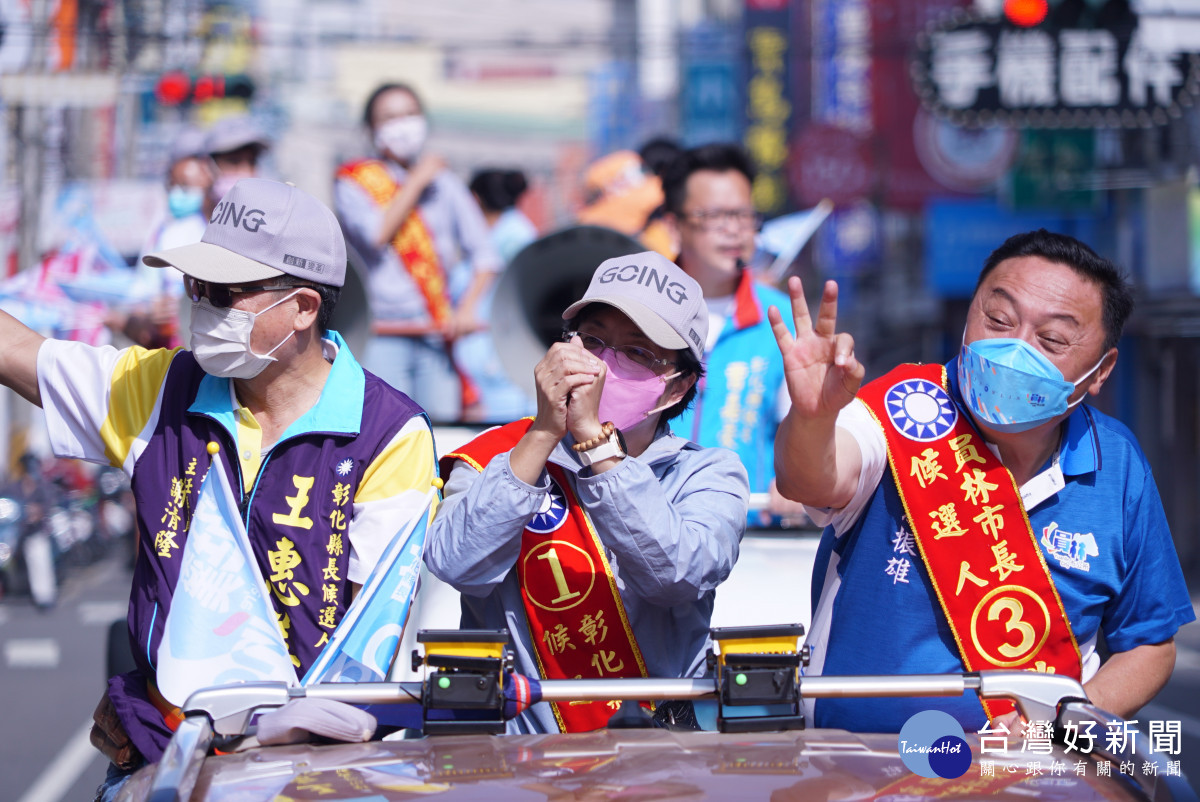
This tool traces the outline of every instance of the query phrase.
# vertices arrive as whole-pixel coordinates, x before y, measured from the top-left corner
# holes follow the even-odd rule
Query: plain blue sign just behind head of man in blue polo
[[[1092,216],[1014,211],[995,200],[944,199],[925,205],[925,286],[941,298],[970,298],[979,270],[1000,245],[1037,228],[1096,243]]]

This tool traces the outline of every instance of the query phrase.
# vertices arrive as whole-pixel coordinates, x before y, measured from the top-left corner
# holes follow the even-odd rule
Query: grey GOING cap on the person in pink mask
[[[661,253],[643,251],[606,259],[583,298],[563,312],[569,321],[588,304],[619,309],[655,345],[704,358],[708,305],[696,280]]]

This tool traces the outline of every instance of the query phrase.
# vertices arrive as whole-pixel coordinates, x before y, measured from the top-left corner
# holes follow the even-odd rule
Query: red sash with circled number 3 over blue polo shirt
[[[947,388],[942,365],[901,365],[858,397],[887,439],[892,477],[962,664],[1079,680],[1079,646],[1013,474]],[[996,718],[1013,705],[984,708]]]

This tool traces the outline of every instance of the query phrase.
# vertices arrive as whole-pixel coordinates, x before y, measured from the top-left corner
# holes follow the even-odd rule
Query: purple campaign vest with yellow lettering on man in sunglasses
[[[143,678],[155,676],[187,528],[210,462],[208,443],[216,442],[223,454],[234,455],[235,443],[223,425],[187,411],[204,376],[190,352],[179,352],[164,379],[154,435],[133,468],[138,553],[128,626]],[[359,483],[396,432],[424,414],[404,394],[371,373],[365,376],[364,411],[370,414],[362,414],[356,437],[306,432],[281,441],[264,455],[251,492],[239,498],[299,676],[317,658],[349,604],[347,532]],[[236,492],[244,487],[239,461],[223,462]],[[109,682],[109,695],[134,744],[155,761],[170,732],[144,695],[145,683],[121,677]]]

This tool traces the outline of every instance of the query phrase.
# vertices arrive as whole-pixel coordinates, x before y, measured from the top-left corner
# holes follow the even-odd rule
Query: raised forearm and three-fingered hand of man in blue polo
[[[798,277],[788,280],[787,292],[794,337],[776,307],[767,311],[792,399],[775,437],[775,481],[786,498],[841,508],[853,498],[863,460],[854,438],[835,424],[838,412],[854,400],[864,369],[854,358],[853,337],[836,331],[838,283],[826,282],[816,324]]]

